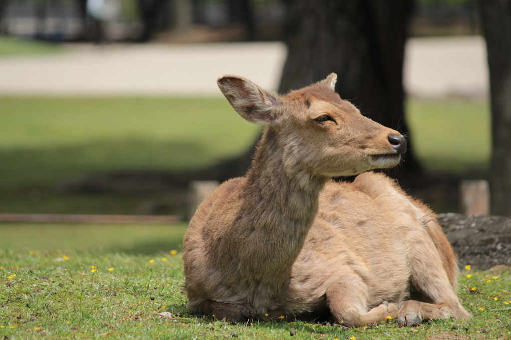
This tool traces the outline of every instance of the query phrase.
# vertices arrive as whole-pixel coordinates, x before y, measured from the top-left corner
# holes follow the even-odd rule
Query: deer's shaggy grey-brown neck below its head
[[[240,212],[248,233],[242,255],[245,274],[272,286],[289,279],[327,181],[299,171],[285,153],[268,127],[246,175]]]

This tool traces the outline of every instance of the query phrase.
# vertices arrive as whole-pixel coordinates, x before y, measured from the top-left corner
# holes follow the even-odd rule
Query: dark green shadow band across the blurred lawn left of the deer
[[[122,139],[65,147],[0,148],[0,187],[53,185],[86,174],[195,168],[215,160],[208,145],[194,141]]]

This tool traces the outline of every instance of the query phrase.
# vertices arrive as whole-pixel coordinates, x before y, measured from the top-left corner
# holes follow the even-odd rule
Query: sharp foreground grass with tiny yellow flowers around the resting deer
[[[461,302],[474,315],[466,321],[342,330],[297,321],[231,324],[193,315],[181,291],[180,254],[173,248],[183,230],[182,225],[0,225],[0,337],[203,339],[235,333],[238,338],[281,339],[291,338],[291,330],[296,339],[511,337],[511,315],[503,309],[511,306],[509,268],[460,275]],[[152,243],[152,252],[113,251],[123,247],[126,235],[135,243]],[[60,241],[48,243],[52,237]],[[154,246],[164,240],[174,242],[171,248]]]

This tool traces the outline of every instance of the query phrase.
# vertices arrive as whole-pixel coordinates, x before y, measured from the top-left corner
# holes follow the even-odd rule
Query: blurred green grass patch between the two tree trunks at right
[[[428,171],[456,175],[487,171],[491,116],[486,101],[414,99],[407,109],[411,142]]]

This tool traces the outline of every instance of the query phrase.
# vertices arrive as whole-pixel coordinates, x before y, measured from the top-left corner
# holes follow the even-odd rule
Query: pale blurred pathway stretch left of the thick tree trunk
[[[275,89],[285,58],[283,43],[69,45],[58,55],[0,58],[0,93],[221,95],[224,74]]]

